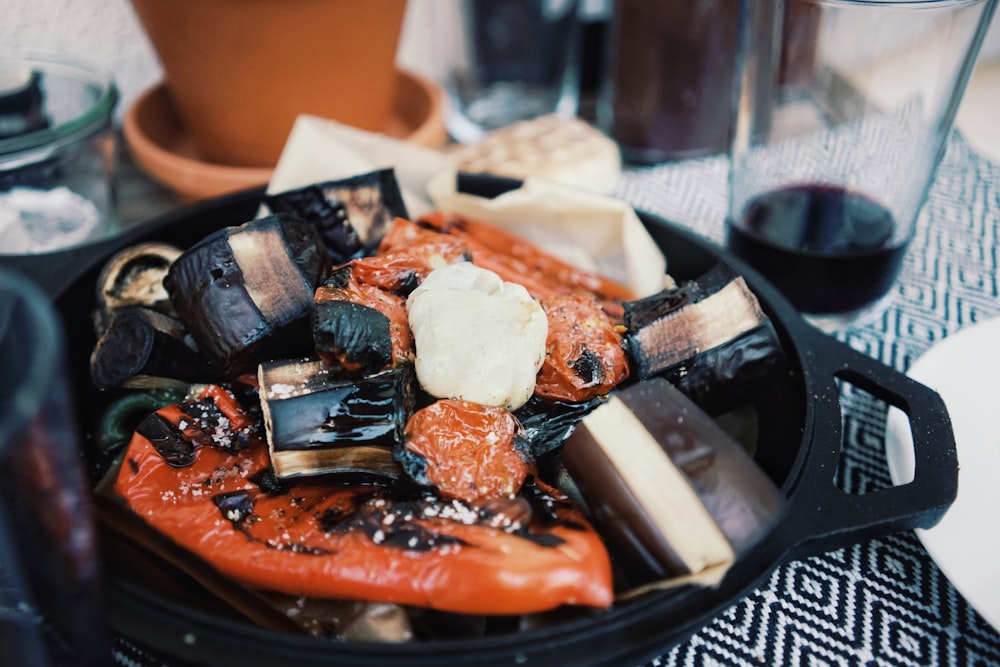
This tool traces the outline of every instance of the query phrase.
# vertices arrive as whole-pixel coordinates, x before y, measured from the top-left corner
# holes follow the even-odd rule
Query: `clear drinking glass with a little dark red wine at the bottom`
[[[797,0],[784,30],[743,22],[726,243],[819,328],[891,299],[996,5]],[[783,34],[814,42],[785,79]]]

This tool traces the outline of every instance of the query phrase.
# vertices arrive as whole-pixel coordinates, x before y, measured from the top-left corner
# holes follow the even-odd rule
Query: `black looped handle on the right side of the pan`
[[[788,554],[801,558],[893,532],[935,525],[958,491],[958,454],[944,401],[932,389],[837,340],[802,327],[803,364],[814,382],[808,455],[790,490]],[[840,379],[898,408],[913,435],[913,480],[864,494],[834,480],[842,451]]]

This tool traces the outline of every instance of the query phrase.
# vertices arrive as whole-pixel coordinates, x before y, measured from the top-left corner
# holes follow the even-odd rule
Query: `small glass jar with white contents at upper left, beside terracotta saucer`
[[[117,102],[111,77],[85,63],[0,58],[0,254],[117,231]]]

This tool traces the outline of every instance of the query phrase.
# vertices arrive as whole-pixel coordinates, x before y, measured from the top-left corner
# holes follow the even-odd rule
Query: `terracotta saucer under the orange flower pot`
[[[447,140],[443,92],[437,84],[400,70],[396,103],[384,133],[437,148]],[[190,201],[210,199],[266,184],[271,167],[239,167],[204,161],[160,83],[141,94],[123,119],[125,140],[139,166]]]

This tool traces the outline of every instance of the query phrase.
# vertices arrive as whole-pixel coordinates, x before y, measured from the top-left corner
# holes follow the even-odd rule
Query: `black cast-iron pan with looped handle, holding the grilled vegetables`
[[[215,229],[241,224],[255,215],[261,194],[262,190],[253,190],[196,205],[97,245],[3,259],[55,296],[67,329],[85,437],[103,400],[92,389],[88,370],[94,345],[90,316],[103,261],[140,241],[186,246]],[[939,396],[810,327],[753,269],[714,245],[666,220],[640,217],[663,248],[675,278],[695,278],[720,260],[742,273],[774,321],[791,365],[783,383],[757,405],[757,459],[786,494],[788,512],[718,587],[653,592],[596,616],[544,629],[486,639],[386,645],[331,643],[264,630],[181,598],[169,599],[142,580],[108,571],[114,630],[180,663],[241,667],[640,664],[687,638],[787,560],[936,523],[954,500],[958,477],[951,425]],[[864,495],[850,495],[837,487],[834,475],[842,439],[837,379],[910,416],[916,458],[913,482]]]

